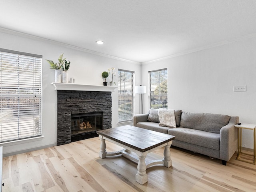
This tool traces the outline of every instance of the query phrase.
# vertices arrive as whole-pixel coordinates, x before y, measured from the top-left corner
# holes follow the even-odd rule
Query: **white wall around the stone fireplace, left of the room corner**
[[[50,69],[46,59],[58,61],[60,54],[71,62],[68,70],[69,77],[75,78],[77,84],[103,85],[102,72],[114,67],[118,74],[118,68],[123,70],[135,71],[140,74],[140,64],[126,62],[113,58],[107,58],[96,54],[90,54],[81,50],[75,50],[62,44],[57,44],[48,40],[42,40],[31,36],[20,34],[7,34],[0,32],[0,48],[27,52],[43,56],[43,78],[42,78],[42,130],[43,137],[29,139],[18,142],[1,144],[4,146],[5,156],[20,152],[27,152],[47,146],[56,145],[56,90],[51,85],[54,82],[54,70]],[[140,75],[138,75],[140,76]],[[108,80],[110,81],[110,80]],[[118,82],[118,76],[114,78]],[[136,80],[136,85],[140,84],[140,78]],[[117,86],[117,85],[116,85]],[[139,97],[136,96],[136,101]],[[136,109],[138,113],[138,109]],[[118,89],[112,92],[112,127],[118,126]]]

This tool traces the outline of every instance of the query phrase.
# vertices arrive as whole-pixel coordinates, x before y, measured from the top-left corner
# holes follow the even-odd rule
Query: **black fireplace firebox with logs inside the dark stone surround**
[[[103,129],[102,114],[102,112],[73,114],[71,116],[71,142],[88,136],[97,136],[96,131]]]

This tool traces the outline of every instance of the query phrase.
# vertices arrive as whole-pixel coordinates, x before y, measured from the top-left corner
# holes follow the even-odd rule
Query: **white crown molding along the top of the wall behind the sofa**
[[[156,60],[142,62],[141,64],[142,65],[150,64],[150,63],[166,60],[166,59],[169,59],[169,58],[174,58],[174,57],[178,57],[178,56],[198,52],[198,51],[201,51],[201,50],[206,50],[206,49],[210,49],[210,48],[214,48],[214,47],[218,47],[218,46],[238,42],[238,41],[249,39],[249,38],[255,38],[255,37],[256,37],[256,33],[247,34],[247,35],[239,36],[239,37],[236,37],[236,38],[224,40],[224,41],[221,41],[221,42],[213,43],[213,44],[210,44],[210,45],[202,46],[202,47],[199,47],[199,48],[195,48],[195,49],[191,49],[191,50],[187,50],[187,51],[182,51],[182,52],[179,52],[179,53],[176,53],[176,54],[173,54],[173,55],[169,55],[169,56],[166,56],[166,57],[162,57],[162,58],[159,58],[159,59],[156,59]]]

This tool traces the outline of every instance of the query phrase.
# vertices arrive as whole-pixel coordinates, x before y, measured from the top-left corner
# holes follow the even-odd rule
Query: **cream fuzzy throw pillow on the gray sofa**
[[[158,109],[159,126],[176,128],[174,109]]]

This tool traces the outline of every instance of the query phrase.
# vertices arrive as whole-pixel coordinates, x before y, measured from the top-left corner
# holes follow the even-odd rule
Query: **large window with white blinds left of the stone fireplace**
[[[0,49],[0,142],[42,135],[42,56]]]

